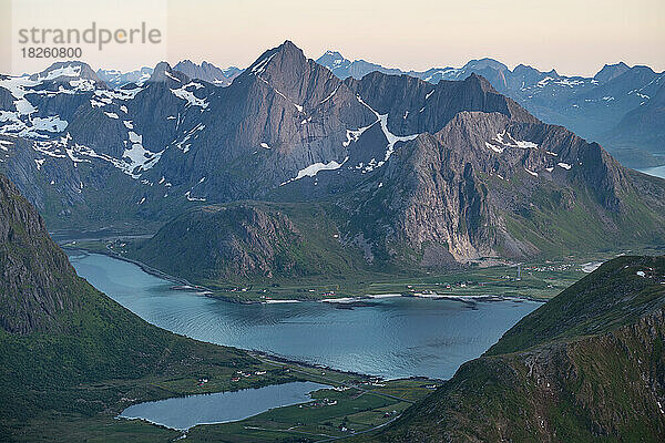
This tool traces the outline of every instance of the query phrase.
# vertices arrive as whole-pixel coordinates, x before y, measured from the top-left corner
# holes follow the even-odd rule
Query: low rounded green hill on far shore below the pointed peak
[[[211,286],[341,276],[367,267],[359,251],[344,247],[336,224],[316,204],[204,206],[132,245],[127,255]]]

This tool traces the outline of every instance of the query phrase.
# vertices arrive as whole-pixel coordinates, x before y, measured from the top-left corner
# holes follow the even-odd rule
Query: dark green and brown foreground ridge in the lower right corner
[[[603,265],[463,364],[377,441],[662,441],[663,281],[664,257]]]

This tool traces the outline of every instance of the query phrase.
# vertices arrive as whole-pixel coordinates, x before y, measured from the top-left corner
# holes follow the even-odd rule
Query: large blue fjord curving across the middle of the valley
[[[76,272],[149,322],[197,340],[385,378],[448,379],[479,357],[533,301],[479,302],[377,299],[376,306],[231,303],[172,290],[139,266],[98,254],[70,253]]]

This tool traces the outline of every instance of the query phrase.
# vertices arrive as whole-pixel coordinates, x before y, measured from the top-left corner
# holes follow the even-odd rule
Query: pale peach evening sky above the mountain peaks
[[[27,2],[38,6],[28,16],[17,7]],[[147,54],[86,53],[94,69],[129,70],[161,59],[246,66],[289,39],[309,58],[334,49],[406,70],[460,66],[482,56],[569,75],[618,61],[665,70],[663,0],[14,0],[13,9],[12,40],[18,27],[81,27],[93,19],[110,28],[139,20],[164,29],[165,44]],[[16,45],[12,51],[13,71],[49,64],[18,60]]]

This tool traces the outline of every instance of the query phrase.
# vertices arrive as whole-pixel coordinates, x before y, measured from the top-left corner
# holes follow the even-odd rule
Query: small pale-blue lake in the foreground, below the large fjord
[[[154,424],[188,430],[197,424],[217,424],[244,420],[267,410],[311,400],[309,393],[330,388],[325,384],[293,382],[235,392],[178,396],[134,404],[121,419],[142,419]]]

